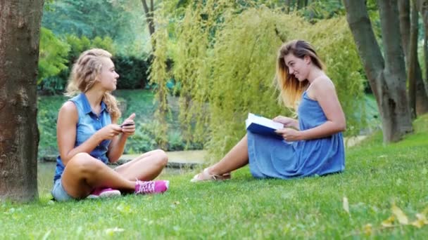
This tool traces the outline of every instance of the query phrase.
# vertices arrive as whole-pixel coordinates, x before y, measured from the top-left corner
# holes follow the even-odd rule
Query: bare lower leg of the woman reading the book
[[[248,164],[248,138],[245,135],[217,164],[208,168],[208,173],[222,175]]]

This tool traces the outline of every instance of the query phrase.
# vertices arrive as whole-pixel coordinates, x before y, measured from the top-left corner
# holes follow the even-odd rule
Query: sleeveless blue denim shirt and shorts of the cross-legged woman
[[[89,101],[84,93],[80,93],[69,101],[75,103],[77,113],[79,115],[79,119],[76,124],[75,147],[88,140],[92,135],[94,135],[94,133],[96,133],[96,131],[99,131],[104,126],[111,124],[111,116],[108,113],[104,102],[101,102],[101,113],[97,116],[92,112],[91,105],[89,105]],[[106,153],[110,142],[111,140],[103,140],[89,155],[107,164],[108,158]],[[53,182],[61,178],[64,168],[65,166],[61,160],[61,156],[58,155],[56,158],[56,170]]]

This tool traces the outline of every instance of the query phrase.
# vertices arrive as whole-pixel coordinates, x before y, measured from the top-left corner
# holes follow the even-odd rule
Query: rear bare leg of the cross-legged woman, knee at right
[[[163,150],[146,152],[136,159],[115,168],[123,178],[127,180],[153,180],[168,164],[168,156]]]

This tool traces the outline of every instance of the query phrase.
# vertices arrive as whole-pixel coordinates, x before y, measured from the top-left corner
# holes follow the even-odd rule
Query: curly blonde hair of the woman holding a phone
[[[86,93],[94,86],[103,67],[101,58],[111,58],[111,53],[100,48],[92,48],[80,54],[73,65],[70,79],[68,79],[66,96],[72,97],[78,93]],[[107,106],[112,121],[116,122],[121,115],[118,101],[111,93],[106,92],[103,95],[103,102]]]

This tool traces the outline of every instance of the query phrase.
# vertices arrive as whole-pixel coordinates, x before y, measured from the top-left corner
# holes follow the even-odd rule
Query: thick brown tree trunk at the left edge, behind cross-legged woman
[[[0,199],[37,199],[37,62],[43,0],[0,1]]]

